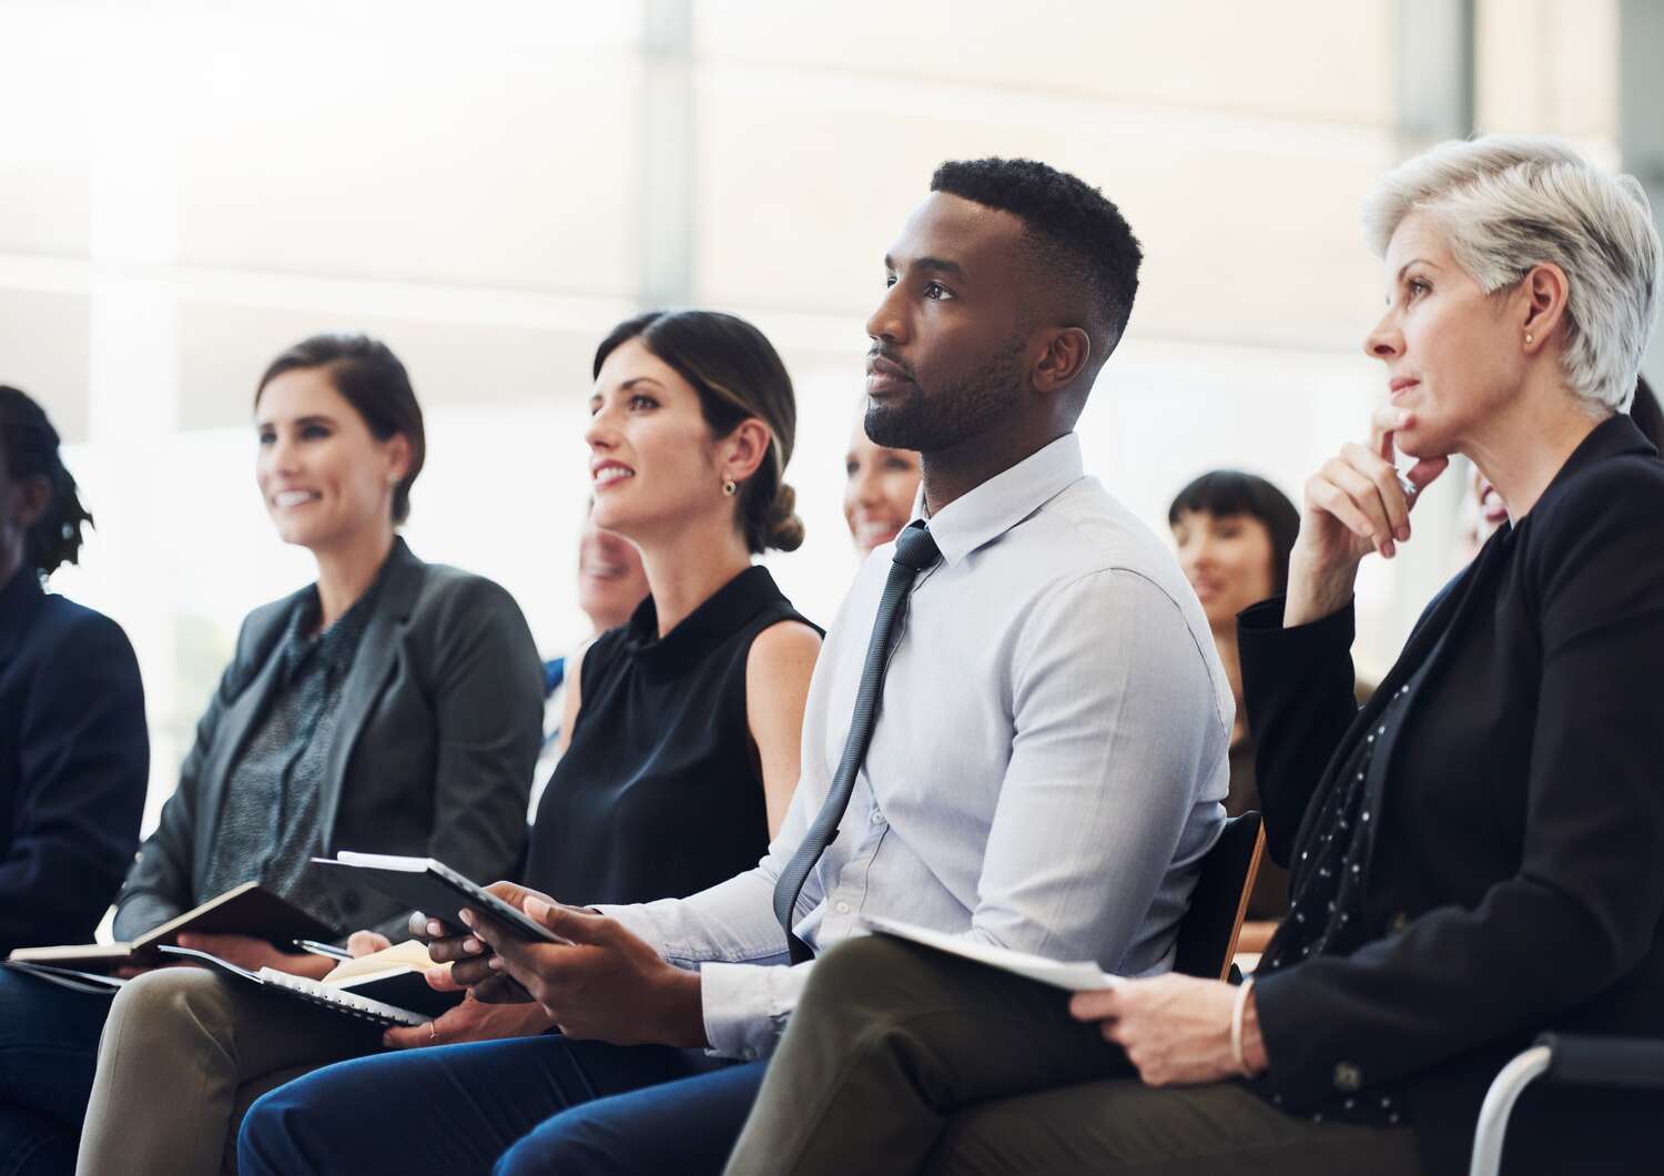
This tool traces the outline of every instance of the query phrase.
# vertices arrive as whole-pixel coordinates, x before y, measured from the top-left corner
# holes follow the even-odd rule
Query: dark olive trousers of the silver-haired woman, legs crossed
[[[729,1161],[784,1173],[1413,1176],[1408,1129],[1142,1085],[1068,995],[882,936],[815,963]]]

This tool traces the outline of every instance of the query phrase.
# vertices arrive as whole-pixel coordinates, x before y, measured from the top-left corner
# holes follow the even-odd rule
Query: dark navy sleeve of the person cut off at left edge
[[[120,625],[88,615],[47,654],[18,735],[0,948],[92,940],[133,863],[150,777],[145,690]]]

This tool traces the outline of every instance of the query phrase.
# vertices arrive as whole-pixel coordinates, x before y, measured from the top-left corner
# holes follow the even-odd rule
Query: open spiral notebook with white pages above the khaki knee
[[[428,986],[424,968],[433,966],[419,943],[399,943],[374,955],[348,960],[323,980],[293,976],[276,968],[250,971],[230,960],[181,946],[163,946],[161,953],[191,960],[260,985],[268,991],[305,1000],[343,1016],[356,1016],[376,1025],[426,1025],[459,1003],[461,993],[441,993]]]

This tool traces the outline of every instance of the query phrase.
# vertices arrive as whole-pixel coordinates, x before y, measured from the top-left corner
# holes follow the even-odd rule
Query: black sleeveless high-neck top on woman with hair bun
[[[769,817],[745,659],[782,620],[809,624],[754,566],[662,639],[647,597],[589,645],[572,742],[537,803],[527,885],[579,907],[637,903],[757,865]]]

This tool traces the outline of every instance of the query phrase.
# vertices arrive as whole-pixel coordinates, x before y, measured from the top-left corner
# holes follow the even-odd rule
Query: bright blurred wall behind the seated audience
[[[42,398],[98,529],[58,590],[145,672],[151,818],[253,605],[310,579],[253,484],[253,383],[381,336],[428,413],[406,534],[508,586],[546,655],[572,586],[589,359],[619,318],[752,318],[797,381],[830,620],[882,256],[943,158],[1037,156],[1115,200],[1143,288],[1080,432],[1165,532],[1196,472],[1300,496],[1383,396],[1358,206],[1471,130],[1564,135],[1661,181],[1651,0],[0,0],[0,381]],[[1657,201],[1656,203],[1664,203]],[[1458,474],[1371,561],[1383,669],[1458,566]]]

